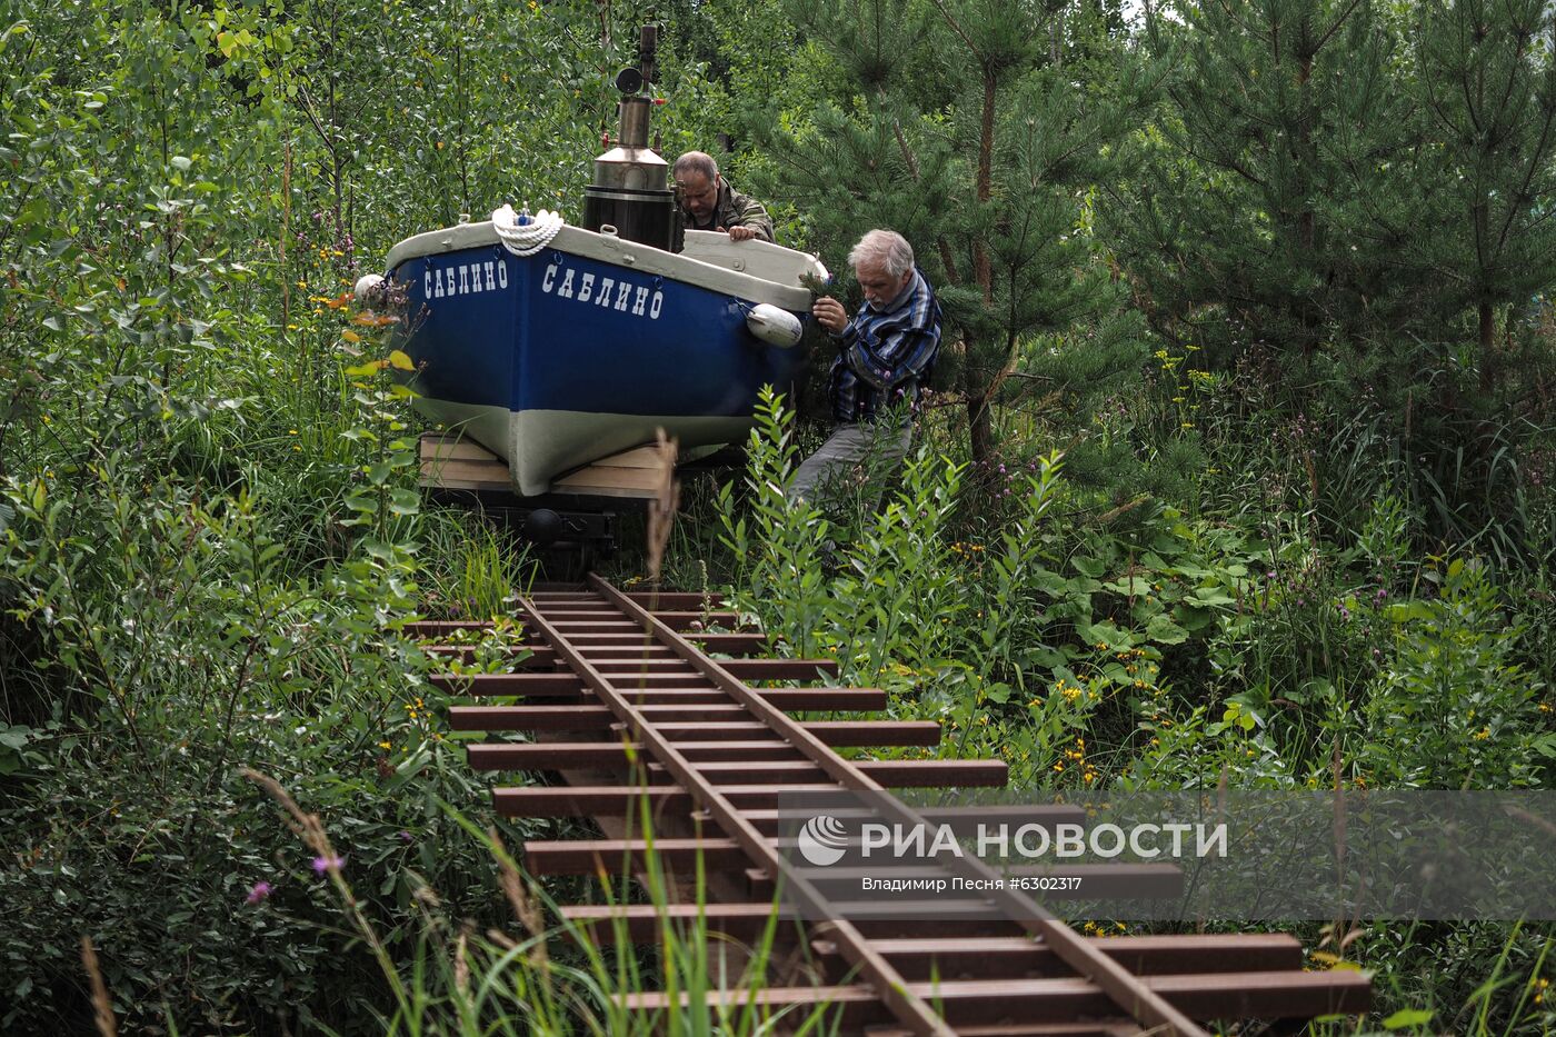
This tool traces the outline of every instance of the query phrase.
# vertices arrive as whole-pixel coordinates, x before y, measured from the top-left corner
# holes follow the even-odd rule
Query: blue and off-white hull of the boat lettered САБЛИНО
[[[761,388],[800,372],[800,350],[758,341],[745,315],[804,318],[804,291],[576,227],[527,257],[457,230],[391,254],[398,344],[417,408],[503,456],[520,494],[658,428],[683,447],[738,441]]]

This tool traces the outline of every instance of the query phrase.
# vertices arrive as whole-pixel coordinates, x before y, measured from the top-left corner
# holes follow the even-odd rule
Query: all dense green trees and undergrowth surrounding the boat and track
[[[686,487],[678,582],[1019,788],[1548,788],[1550,12],[1147,9],[0,11],[0,1028],[90,1026],[82,936],[137,1032],[619,1031],[641,968],[708,981],[696,939],[537,951],[398,632],[534,567],[423,504],[345,294],[462,213],[576,218],[649,19],[666,151],[731,134],[843,294],[899,227],[948,313],[885,501],[786,504],[817,428],[769,400],[747,472]],[[1548,930],[1304,936],[1379,970],[1363,1029],[1556,1021]]]

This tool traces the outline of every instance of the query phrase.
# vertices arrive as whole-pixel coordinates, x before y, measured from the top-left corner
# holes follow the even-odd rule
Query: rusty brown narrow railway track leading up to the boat
[[[1355,972],[1304,972],[1302,950],[1284,934],[1113,936],[1075,933],[1018,892],[979,894],[982,903],[895,905],[859,912],[839,903],[832,883],[800,870],[780,844],[783,793],[871,794],[885,813],[921,822],[887,788],[1002,786],[997,760],[846,760],[839,747],[935,746],[934,722],[798,721],[790,713],[870,712],[885,694],[867,688],[766,687],[837,674],[832,660],[772,659],[759,632],[714,634],[736,615],[702,595],[627,593],[590,576],[584,590],[537,592],[520,603],[529,654],[512,673],[440,674],[468,696],[450,707],[456,730],[520,733],[529,741],[471,744],[481,771],[554,772],[562,785],[499,786],[492,796],[510,817],[591,817],[604,839],[532,841],[537,875],[641,874],[647,856],[666,875],[689,877],[699,859],[706,903],[568,905],[566,920],[593,939],[652,944],[666,923],[702,919],[706,930],[752,940],[769,926],[775,889],[808,919],[781,934],[817,964],[812,984],[769,986],[756,998],[778,1012],[831,1003],[843,1032],[873,1034],[1204,1034],[1206,1020],[1271,1020],[1290,1032],[1304,1020],[1365,1011],[1369,981]],[[447,638],[473,623],[417,623],[411,634]],[[434,645],[453,659],[471,649]],[[733,656],[734,659],[716,659]],[[517,704],[482,699],[515,696]],[[635,836],[644,805],[654,839]],[[874,799],[879,797],[879,799]],[[935,822],[966,819],[960,808]],[[1058,819],[1074,808],[1049,807]],[[926,811],[929,814],[937,811]],[[977,859],[955,861],[968,878],[993,878]],[[1091,866],[1089,889],[1172,895],[1172,866]],[[1148,892],[1155,891],[1155,892]],[[997,908],[997,919],[988,908]],[[934,922],[915,922],[934,914]],[[630,997],[643,1011],[668,995]],[[1248,1032],[1248,1031],[1242,1031]]]

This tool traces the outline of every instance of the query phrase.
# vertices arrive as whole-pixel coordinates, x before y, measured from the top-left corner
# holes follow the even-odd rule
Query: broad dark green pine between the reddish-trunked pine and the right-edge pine
[[[1173,11],[1150,42],[1175,75],[1102,220],[1156,330],[1231,363],[1408,311],[1411,285],[1390,276],[1411,224],[1397,34],[1368,0]]]

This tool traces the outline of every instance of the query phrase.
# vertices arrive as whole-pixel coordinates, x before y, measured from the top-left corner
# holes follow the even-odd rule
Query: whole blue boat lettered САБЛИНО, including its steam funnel
[[[507,461],[524,497],[654,442],[739,442],[764,385],[803,364],[809,254],[683,230],[669,167],[647,146],[654,39],[622,89],[616,148],[594,159],[585,226],[509,207],[400,241],[358,294],[401,305],[415,406]]]

